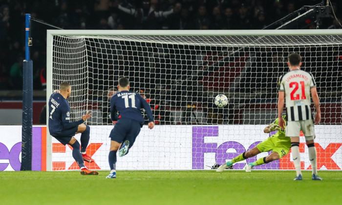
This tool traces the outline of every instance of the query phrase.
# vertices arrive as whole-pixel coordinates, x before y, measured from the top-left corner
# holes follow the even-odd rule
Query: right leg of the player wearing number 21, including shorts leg
[[[305,136],[306,145],[309,150],[309,160],[312,168],[312,180],[322,180],[317,173],[317,150],[314,139],[316,137],[314,130],[314,123],[312,120],[304,121],[302,123],[303,134]]]

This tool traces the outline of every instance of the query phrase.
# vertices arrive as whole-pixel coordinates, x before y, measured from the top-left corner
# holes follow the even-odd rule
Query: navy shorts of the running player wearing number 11
[[[119,119],[115,124],[114,128],[111,130],[109,138],[112,141],[123,143],[124,141],[129,141],[129,148],[135,142],[138,136],[142,124],[135,120],[130,119]]]

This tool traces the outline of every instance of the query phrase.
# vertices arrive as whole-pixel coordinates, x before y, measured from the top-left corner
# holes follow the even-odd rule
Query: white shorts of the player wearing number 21
[[[288,121],[286,123],[286,137],[299,137],[300,131],[302,131],[306,141],[315,138],[314,122],[312,120]]]

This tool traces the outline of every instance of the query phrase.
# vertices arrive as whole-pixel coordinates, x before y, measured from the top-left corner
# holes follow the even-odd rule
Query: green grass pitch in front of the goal
[[[295,171],[0,172],[0,205],[340,205],[342,172],[293,181]]]

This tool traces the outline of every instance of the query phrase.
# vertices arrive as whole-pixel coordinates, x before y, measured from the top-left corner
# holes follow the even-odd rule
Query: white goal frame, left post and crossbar
[[[46,102],[52,93],[52,53],[54,36],[285,36],[341,35],[342,29],[321,30],[47,30],[46,39]],[[46,110],[46,170],[52,171],[52,137],[48,131]]]

